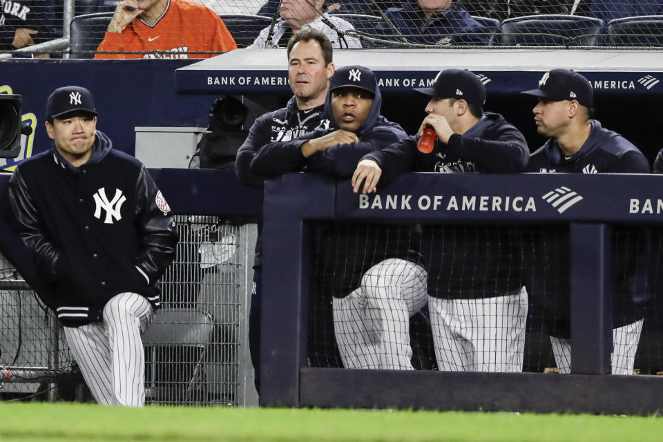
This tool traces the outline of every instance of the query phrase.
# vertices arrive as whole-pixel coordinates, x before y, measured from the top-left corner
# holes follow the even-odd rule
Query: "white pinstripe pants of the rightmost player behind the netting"
[[[613,329],[613,352],[611,354],[612,374],[633,374],[635,365],[635,353],[637,343],[640,341],[640,333],[644,319],[635,323],[626,324],[623,327]],[[553,345],[555,362],[560,373],[571,372],[571,343],[568,339],[550,336]]]

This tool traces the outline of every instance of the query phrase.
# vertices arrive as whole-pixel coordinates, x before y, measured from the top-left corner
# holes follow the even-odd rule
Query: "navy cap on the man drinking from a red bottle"
[[[465,69],[445,69],[437,73],[432,88],[415,88],[417,92],[435,98],[464,99],[469,104],[483,106],[486,88],[476,74]]]

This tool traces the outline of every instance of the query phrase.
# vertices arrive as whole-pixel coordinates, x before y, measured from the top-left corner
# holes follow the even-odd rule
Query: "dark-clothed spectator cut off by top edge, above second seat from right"
[[[539,14],[586,15],[590,0],[465,0],[462,3],[471,15],[505,20]]]

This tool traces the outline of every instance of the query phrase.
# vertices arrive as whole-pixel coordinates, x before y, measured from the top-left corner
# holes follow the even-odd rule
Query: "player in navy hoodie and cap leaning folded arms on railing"
[[[251,171],[265,177],[293,171],[352,175],[358,160],[407,135],[380,115],[374,73],[340,68],[325,113],[331,127],[264,146]],[[334,336],[346,368],[413,369],[409,318],[426,303],[419,236],[410,227],[321,223],[316,229],[316,276],[332,294]]]

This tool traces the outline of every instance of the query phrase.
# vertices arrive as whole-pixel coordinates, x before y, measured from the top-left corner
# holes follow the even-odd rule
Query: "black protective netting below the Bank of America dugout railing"
[[[311,366],[570,372],[567,226],[314,231]],[[615,374],[663,371],[662,238],[613,228]],[[421,260],[398,254],[413,247]]]

